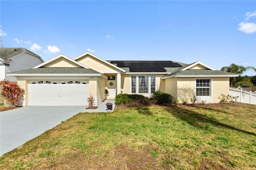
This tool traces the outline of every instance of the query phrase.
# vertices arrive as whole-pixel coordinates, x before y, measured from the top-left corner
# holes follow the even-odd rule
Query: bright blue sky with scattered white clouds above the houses
[[[5,47],[44,61],[89,51],[105,60],[256,67],[256,1],[1,0],[0,25]]]

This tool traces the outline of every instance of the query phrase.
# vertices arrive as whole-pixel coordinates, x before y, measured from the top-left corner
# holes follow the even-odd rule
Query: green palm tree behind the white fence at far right
[[[220,71],[225,71],[229,73],[239,74],[238,77],[230,77],[230,86],[242,86],[242,87],[251,87],[253,88],[253,83],[248,76],[242,76],[244,72],[247,70],[254,70],[256,72],[256,68],[254,67],[244,67],[242,65],[230,64],[230,66],[225,66],[220,69]]]

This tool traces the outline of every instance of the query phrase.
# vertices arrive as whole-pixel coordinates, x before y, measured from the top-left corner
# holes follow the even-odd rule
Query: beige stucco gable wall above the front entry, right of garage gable
[[[100,61],[99,59],[96,59],[90,55],[85,55],[84,57],[81,57],[80,59],[77,59],[79,63],[82,63],[83,65],[86,65],[87,67],[90,67],[94,70],[117,70],[116,68]]]

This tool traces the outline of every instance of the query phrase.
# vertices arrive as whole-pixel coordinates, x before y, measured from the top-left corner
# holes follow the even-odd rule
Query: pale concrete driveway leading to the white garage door
[[[1,112],[0,156],[85,109],[85,106],[28,106]]]

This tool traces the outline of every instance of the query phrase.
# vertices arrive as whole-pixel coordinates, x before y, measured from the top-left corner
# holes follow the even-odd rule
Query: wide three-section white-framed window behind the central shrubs
[[[132,94],[150,94],[156,91],[155,75],[131,75]]]

